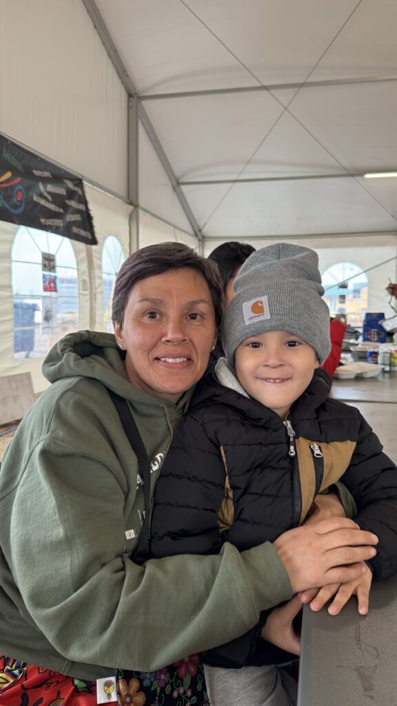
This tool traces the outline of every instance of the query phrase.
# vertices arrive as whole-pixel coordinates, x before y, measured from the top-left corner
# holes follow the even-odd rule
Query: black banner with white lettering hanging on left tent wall
[[[2,135],[0,220],[97,244],[83,181]]]

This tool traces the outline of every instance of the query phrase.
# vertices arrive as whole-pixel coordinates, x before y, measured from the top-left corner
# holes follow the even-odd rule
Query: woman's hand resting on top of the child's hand
[[[295,594],[362,579],[367,573],[363,562],[376,556],[372,545],[377,543],[376,534],[360,530],[352,520],[332,517],[284,532],[275,539],[273,547]]]

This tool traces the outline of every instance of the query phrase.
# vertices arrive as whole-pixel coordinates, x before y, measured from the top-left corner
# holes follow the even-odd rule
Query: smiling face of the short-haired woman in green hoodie
[[[177,402],[203,375],[216,340],[206,280],[183,268],[137,282],[114,334],[134,387]]]

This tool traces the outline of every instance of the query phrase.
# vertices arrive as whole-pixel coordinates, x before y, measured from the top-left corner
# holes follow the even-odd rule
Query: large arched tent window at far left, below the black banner
[[[11,250],[14,358],[44,357],[78,329],[78,278],[71,241],[18,228]]]

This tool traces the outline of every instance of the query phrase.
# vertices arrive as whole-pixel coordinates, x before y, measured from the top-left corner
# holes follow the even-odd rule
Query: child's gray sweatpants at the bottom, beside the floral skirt
[[[221,669],[204,664],[211,706],[296,706],[297,683],[273,665]]]

